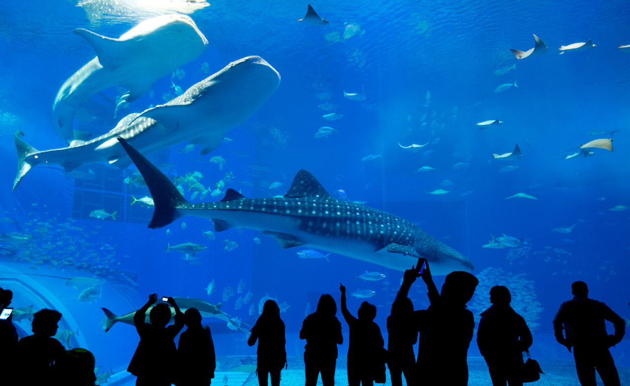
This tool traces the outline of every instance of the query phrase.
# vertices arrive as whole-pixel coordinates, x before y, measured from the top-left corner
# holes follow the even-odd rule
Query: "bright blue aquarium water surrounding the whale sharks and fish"
[[[195,217],[177,220],[164,229],[147,229],[152,209],[131,202],[132,196],[139,198],[149,191],[122,183],[132,176],[134,166],[123,172],[99,164],[77,169],[84,173],[91,169],[95,179],[38,166],[11,193],[16,130],[25,133],[24,139],[39,150],[64,146],[50,125],[52,102],[61,84],[95,56],[93,48],[72,30],[86,28],[118,37],[140,21],[166,12],[142,9],[141,1],[129,0],[120,4],[131,4],[130,11],[98,13],[95,9],[105,2],[86,3],[8,0],[0,4],[0,156],[6,166],[0,172],[0,208],[4,211],[0,217],[20,222],[0,224],[0,230],[33,238],[28,246],[0,246],[6,249],[0,255],[1,271],[12,272],[0,273],[0,285],[16,293],[13,306],[59,309],[64,314],[64,329],[79,328],[71,345],[89,348],[97,363],[115,372],[125,370],[137,337],[131,326],[121,323],[104,334],[100,308],[126,314],[154,292],[222,302],[222,310],[250,326],[258,316],[258,301],[265,295],[276,298],[278,303],[290,305],[282,313],[291,337],[287,352],[299,359],[304,342],[295,335],[307,303],[314,310],[322,293],[338,299],[342,282],[349,290],[376,292],[369,301],[382,306],[376,321],[386,336],[387,302],[395,295],[402,272],[338,254],[328,256],[329,262],[299,259],[296,252],[304,248],[278,249],[257,230],[215,232],[217,238],[209,240],[202,232],[214,231],[212,224]],[[629,3],[321,1],[312,5],[329,25],[297,22],[307,5],[295,2],[220,0],[190,13],[209,45],[198,59],[181,67],[185,76],[175,80],[183,90],[248,55],[263,57],[282,81],[260,110],[227,134],[232,142],[221,144],[208,156],[199,156],[200,149],[192,154],[163,150],[152,160],[175,162],[180,175],[199,171],[208,187],[232,172],[235,181],[227,186],[248,197],[284,194],[295,173],[306,169],[336,197],[336,191],[343,190],[348,200],[366,202],[415,222],[466,255],[475,266],[473,274],[495,268],[492,275],[484,271],[479,288],[487,290],[523,274],[522,280],[511,281],[510,290],[513,297],[515,293],[534,295],[539,303],[529,324],[534,331],[532,355],[541,359],[571,360],[554,342],[551,320],[559,304],[571,298],[573,281],[587,282],[590,297],[630,319],[624,282],[630,267],[630,212],[607,210],[630,206],[630,54],[613,49],[630,44]],[[509,49],[534,47],[532,33],[549,49],[515,62]],[[559,55],[561,45],[589,38],[597,47]],[[203,63],[209,65],[208,74],[199,71]],[[515,69],[507,74],[494,74],[514,63]],[[164,103],[164,93],[175,96],[169,78],[156,82],[154,96],[146,94],[119,111],[118,119],[113,118],[113,103],[120,94],[117,89],[96,94],[74,116],[74,129],[104,133],[122,116]],[[494,92],[501,84],[514,82],[517,88]],[[358,92],[362,87],[365,101],[344,98],[343,91]],[[427,91],[430,104],[425,106]],[[343,118],[333,122],[322,118],[335,112]],[[475,125],[495,119],[504,123],[483,130]],[[442,124],[444,128],[440,128]],[[314,138],[323,126],[335,127],[338,133]],[[584,135],[595,128],[619,132],[612,137]],[[414,153],[397,144],[422,145],[437,138],[437,143]],[[592,157],[563,159],[571,154],[564,150],[600,138],[614,139],[614,152],[591,149]],[[511,152],[515,144],[522,150],[521,159],[495,161],[494,153]],[[231,150],[248,157],[231,154]],[[423,154],[427,150],[434,152]],[[362,161],[370,154],[381,157]],[[217,164],[193,161],[212,156],[226,158],[226,167],[220,170]],[[454,169],[459,162],[467,165]],[[246,175],[247,166],[253,164],[268,167],[272,173]],[[437,170],[412,173],[422,166]],[[517,168],[501,173],[502,166]],[[259,185],[263,180],[285,186],[272,191]],[[445,180],[452,185],[443,185]],[[254,186],[236,181],[251,181]],[[455,187],[445,195],[425,193]],[[461,195],[469,191],[472,193]],[[537,200],[506,200],[516,193]],[[221,197],[208,195],[204,201]],[[115,221],[89,217],[95,209],[112,213],[112,207],[120,208]],[[569,234],[553,232],[573,224],[577,225]],[[170,236],[167,230],[172,232]],[[491,234],[517,237],[524,244],[482,248]],[[261,244],[253,242],[255,237]],[[237,242],[238,248],[224,251],[221,239]],[[200,264],[180,259],[183,254],[163,252],[167,244],[183,242],[207,246],[195,256]],[[54,261],[67,260],[69,254],[72,268],[55,265]],[[91,266],[81,268],[78,263]],[[384,273],[387,278],[355,282],[355,273],[366,270]],[[19,272],[98,275],[108,283],[96,302],[87,303],[77,300],[81,290],[66,287],[62,279]],[[207,295],[204,288],[212,280],[217,290]],[[222,301],[224,287],[236,292],[241,280],[244,292]],[[436,278],[438,287],[443,280],[444,276]],[[250,290],[254,293],[253,315],[249,315],[249,304],[234,309],[236,300]],[[415,292],[418,290],[425,288],[413,287],[410,298],[416,309],[423,309],[428,301],[425,293]],[[528,299],[520,304],[515,301],[513,306],[524,309],[533,302]],[[469,308],[479,314],[487,302],[488,293],[480,290]],[[352,299],[349,307],[355,311],[359,304]],[[210,324],[218,342],[217,355],[255,354],[255,348],[244,342],[243,332],[229,329],[224,321],[204,322]],[[30,334],[26,319],[16,324]],[[347,326],[342,324],[347,336]],[[612,326],[608,327],[611,333]],[[344,346],[340,353],[346,350]],[[627,339],[611,352],[618,366],[630,366]],[[474,339],[469,355],[479,356]]]

